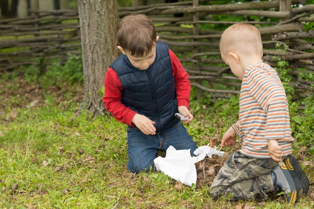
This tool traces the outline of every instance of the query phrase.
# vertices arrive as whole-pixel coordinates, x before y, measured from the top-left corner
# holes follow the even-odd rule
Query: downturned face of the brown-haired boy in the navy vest
[[[154,45],[151,48],[151,51],[143,56],[143,57],[134,57],[129,52],[124,51],[120,46],[118,46],[118,49],[126,55],[130,63],[140,70],[147,70],[149,66],[155,61],[156,58],[156,45]]]

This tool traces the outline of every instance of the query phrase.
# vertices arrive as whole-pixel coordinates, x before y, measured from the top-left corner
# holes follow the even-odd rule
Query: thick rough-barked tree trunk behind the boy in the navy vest
[[[78,12],[84,73],[84,100],[79,112],[87,110],[95,116],[105,111],[99,92],[108,66],[118,56],[117,1],[78,0]]]

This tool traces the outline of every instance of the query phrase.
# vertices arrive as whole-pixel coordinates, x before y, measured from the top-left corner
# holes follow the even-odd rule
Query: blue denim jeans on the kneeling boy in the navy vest
[[[127,127],[129,161],[127,167],[131,172],[149,171],[158,150],[166,151],[170,145],[176,149],[191,149],[191,156],[197,148],[182,122],[171,128],[145,135],[136,127]]]

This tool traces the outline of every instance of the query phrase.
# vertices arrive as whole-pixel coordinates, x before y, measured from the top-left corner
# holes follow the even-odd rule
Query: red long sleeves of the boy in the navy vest
[[[173,76],[175,78],[178,107],[186,106],[189,108],[191,90],[189,75],[183,68],[177,56],[170,49],[169,55]],[[132,118],[136,112],[122,104],[122,90],[123,87],[118,75],[109,67],[105,75],[105,94],[102,101],[106,110],[110,112],[117,121],[133,127],[134,124],[132,123]]]

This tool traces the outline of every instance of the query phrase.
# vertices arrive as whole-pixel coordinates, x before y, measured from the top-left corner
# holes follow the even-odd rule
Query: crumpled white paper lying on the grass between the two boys
[[[216,147],[211,148],[207,145],[201,146],[194,151],[197,155],[192,157],[190,149],[176,150],[175,147],[170,146],[166,151],[166,157],[156,157],[154,165],[156,169],[164,172],[173,179],[182,182],[185,185],[192,186],[196,183],[197,173],[195,163],[201,161],[208,155],[212,157],[213,154],[223,156],[224,152],[217,151]]]

